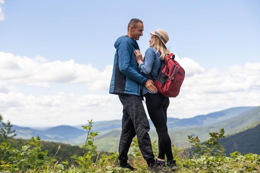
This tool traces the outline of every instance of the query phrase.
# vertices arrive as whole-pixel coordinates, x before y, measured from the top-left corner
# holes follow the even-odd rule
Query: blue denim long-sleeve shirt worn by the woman
[[[161,66],[160,52],[156,51],[157,50],[154,47],[149,47],[145,52],[145,61],[139,64],[142,74],[153,81],[158,78]],[[147,92],[150,91],[146,87],[143,87],[143,94],[146,94]]]

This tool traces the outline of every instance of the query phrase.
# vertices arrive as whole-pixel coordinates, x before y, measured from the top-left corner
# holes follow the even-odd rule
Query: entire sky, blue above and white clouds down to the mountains
[[[27,127],[121,119],[109,94],[115,40],[132,18],[169,35],[186,71],[168,117],[260,106],[259,0],[0,0],[0,114]],[[146,107],[144,103],[144,107]]]

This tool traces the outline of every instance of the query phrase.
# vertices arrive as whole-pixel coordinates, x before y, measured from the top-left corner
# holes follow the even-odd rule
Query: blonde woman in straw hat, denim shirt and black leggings
[[[138,49],[135,50],[135,55],[142,74],[148,79],[154,81],[158,77],[161,60],[164,59],[165,54],[170,53],[165,45],[168,42],[169,37],[167,33],[161,29],[156,30],[156,32],[150,31],[150,34],[150,48],[146,50],[145,58],[143,59],[142,54]],[[149,116],[158,133],[159,154],[156,163],[165,166],[164,157],[166,155],[166,165],[171,168],[171,171],[175,171],[177,166],[175,160],[173,160],[171,139],[166,125],[169,98],[162,96],[158,92],[151,92],[145,87],[143,88],[143,95],[146,98],[146,106]]]

